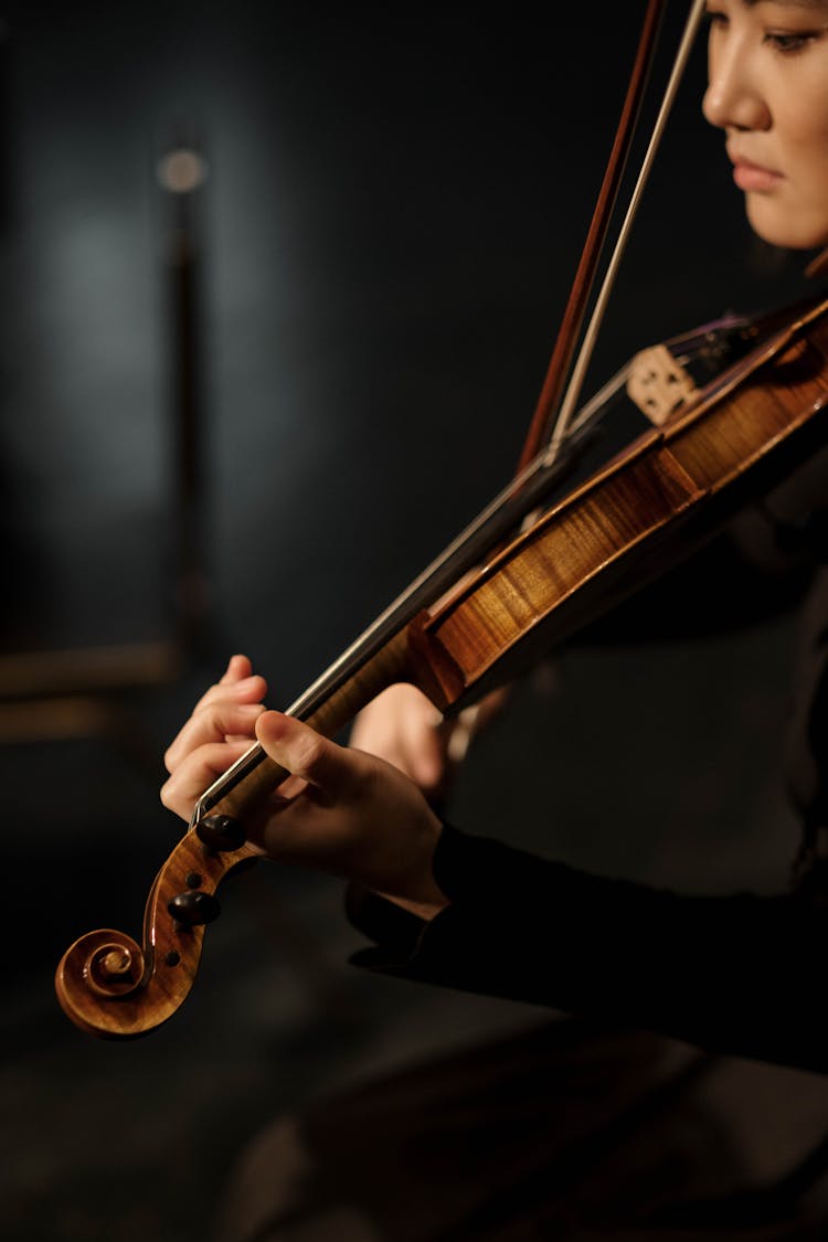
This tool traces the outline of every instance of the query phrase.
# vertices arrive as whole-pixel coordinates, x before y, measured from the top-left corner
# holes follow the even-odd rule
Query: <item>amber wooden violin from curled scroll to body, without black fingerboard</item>
[[[710,538],[828,436],[828,302],[797,309],[746,358],[463,578],[396,623],[330,693],[295,710],[333,735],[387,686],[410,681],[454,713],[513,678],[577,628]],[[438,602],[439,601],[439,602]],[[256,858],[246,814],[286,777],[253,746],[199,801],[159,872],[143,945],[93,932],[63,955],[60,1004],[109,1038],[166,1021],[196,976],[216,889]]]

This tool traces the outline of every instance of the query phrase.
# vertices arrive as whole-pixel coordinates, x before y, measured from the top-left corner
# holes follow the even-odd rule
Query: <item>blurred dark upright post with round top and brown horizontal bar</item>
[[[158,748],[144,737],[132,694],[173,684],[205,655],[210,595],[204,564],[199,219],[207,165],[194,145],[176,143],[159,159],[155,174],[161,189],[173,492],[166,549],[171,581],[164,599],[170,633],[149,642],[0,656],[0,744],[102,737],[149,766],[154,777]]]

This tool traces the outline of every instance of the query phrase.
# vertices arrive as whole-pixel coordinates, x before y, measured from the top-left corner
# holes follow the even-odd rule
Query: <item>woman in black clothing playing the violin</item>
[[[714,0],[709,15],[704,114],[724,132],[752,229],[776,246],[827,247],[828,0]],[[791,488],[799,492],[797,479]],[[381,696],[341,748],[266,710],[267,687],[243,656],[169,748],[163,801],[189,818],[257,738],[293,775],[250,837],[271,858],[351,882],[351,918],[376,941],[361,964],[824,1072],[828,574],[818,566],[828,484],[816,496],[790,528],[801,534],[797,565],[813,566],[797,790],[804,843],[792,892],[685,897],[468,836],[428,800],[446,780],[447,734],[417,691]]]

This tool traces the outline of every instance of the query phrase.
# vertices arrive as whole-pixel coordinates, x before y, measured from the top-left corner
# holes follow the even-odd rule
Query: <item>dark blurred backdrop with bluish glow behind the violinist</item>
[[[509,478],[639,7],[0,7],[4,1237],[204,1236],[281,1109],[533,1016],[360,975],[339,886],[263,867],[228,888],[192,997],[150,1038],[79,1035],[51,980],[77,935],[138,930],[179,832],[163,750],[227,655],[289,702]],[[752,240],[701,89],[696,55],[596,375],[802,288]],[[156,178],[182,143],[209,166],[186,510],[204,609],[184,647]],[[473,748],[454,820],[602,873],[778,887],[791,641],[781,620],[567,653]]]

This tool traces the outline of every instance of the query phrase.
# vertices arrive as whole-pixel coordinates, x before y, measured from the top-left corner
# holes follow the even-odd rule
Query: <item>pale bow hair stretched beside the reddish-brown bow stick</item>
[[[612,293],[612,288],[614,286],[618,274],[618,268],[621,266],[621,260],[623,258],[624,250],[627,248],[629,232],[632,230],[633,221],[638,214],[641,199],[644,193],[644,186],[649,179],[653,161],[655,159],[655,153],[660,145],[668,117],[675,102],[675,97],[678,94],[682,78],[684,77],[686,62],[690,57],[693,43],[699,31],[699,26],[701,25],[704,10],[705,10],[705,0],[694,0],[684,27],[682,41],[679,43],[679,50],[677,52],[675,61],[670,71],[670,77],[667,83],[667,89],[664,91],[664,97],[658,109],[658,116],[655,117],[653,132],[650,134],[649,143],[647,145],[647,150],[642,160],[638,178],[636,180],[636,185],[633,188],[633,193],[629,199],[629,205],[627,207],[627,212],[618,231],[618,237],[616,240],[616,245],[610,257],[607,271],[601,283],[601,289],[596,298],[590,323],[583,334],[583,342],[578,350],[577,359],[572,366],[572,373],[566,388],[566,392],[564,394],[564,399],[561,401],[561,406],[557,412],[557,417],[555,420],[552,436],[549,447],[546,450],[549,461],[555,461],[557,452],[560,451],[560,447],[565,442],[569,425],[575,416],[576,405],[580,400],[581,389],[583,388],[583,380],[586,378],[586,371],[590,365],[592,354],[595,351],[595,343],[597,340],[597,335],[601,329],[603,317],[606,314],[610,294]]]

